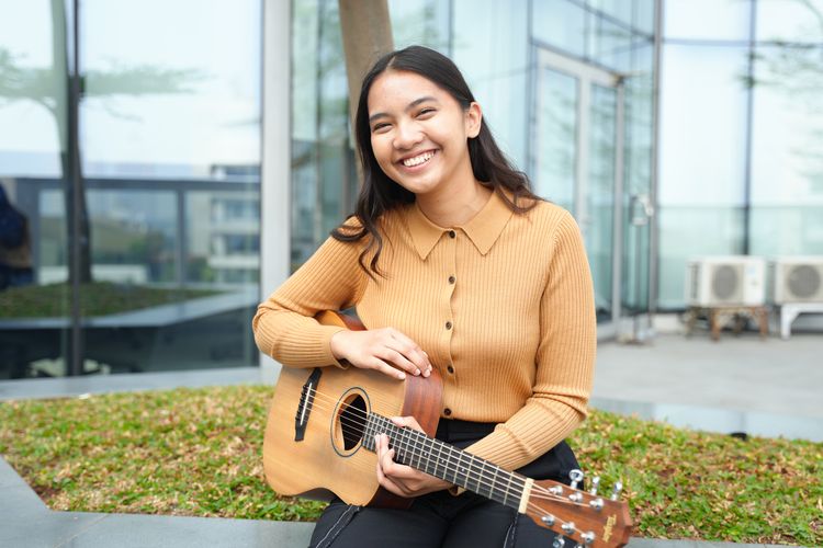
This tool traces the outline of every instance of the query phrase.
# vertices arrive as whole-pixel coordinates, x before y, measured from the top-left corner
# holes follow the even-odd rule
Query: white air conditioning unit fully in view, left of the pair
[[[686,267],[689,306],[762,306],[766,300],[766,261],[759,256],[700,256]]]

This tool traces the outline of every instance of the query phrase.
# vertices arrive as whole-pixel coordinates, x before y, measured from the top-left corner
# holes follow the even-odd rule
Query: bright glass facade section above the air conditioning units
[[[823,255],[823,1],[667,0],[659,290],[691,255]]]

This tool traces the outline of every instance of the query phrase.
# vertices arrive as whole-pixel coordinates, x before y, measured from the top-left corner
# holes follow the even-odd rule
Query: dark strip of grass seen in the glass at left
[[[0,292],[0,319],[54,318],[68,316],[71,287],[68,284],[25,285]],[[140,308],[169,305],[219,292],[146,287],[111,282],[92,282],[80,286],[80,313],[105,316]]]

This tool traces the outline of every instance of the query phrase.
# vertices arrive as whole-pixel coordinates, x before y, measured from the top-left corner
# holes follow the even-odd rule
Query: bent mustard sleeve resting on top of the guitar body
[[[342,328],[320,326],[314,316],[357,302],[365,275],[358,263],[361,249],[329,238],[258,307],[252,330],[261,352],[290,367],[340,365],[330,341]]]

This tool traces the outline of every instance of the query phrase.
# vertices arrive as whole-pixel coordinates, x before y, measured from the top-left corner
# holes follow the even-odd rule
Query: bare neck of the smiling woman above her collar
[[[492,192],[472,179],[464,185],[444,189],[440,193],[418,194],[417,207],[439,227],[459,227],[472,220],[483,209]]]

